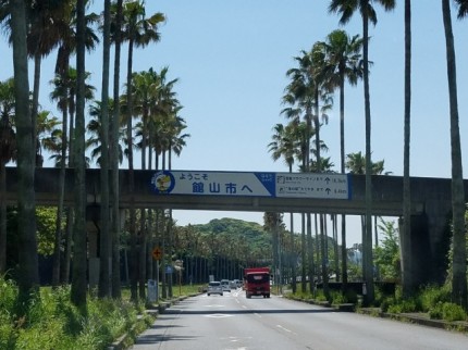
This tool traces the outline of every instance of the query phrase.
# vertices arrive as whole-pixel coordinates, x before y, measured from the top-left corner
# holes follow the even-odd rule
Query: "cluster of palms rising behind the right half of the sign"
[[[298,62],[299,67],[291,68],[287,72],[287,76],[291,77],[291,83],[286,87],[283,102],[288,104],[282,111],[286,117],[292,118],[293,122],[288,125],[290,127],[297,126],[297,121],[301,115],[305,116],[305,122],[310,132],[307,133],[304,145],[303,154],[305,157],[303,163],[303,171],[322,171],[322,159],[321,150],[324,148],[323,142],[320,139],[320,127],[321,123],[319,116],[321,115],[322,122],[327,123],[328,116],[327,111],[331,108],[331,92],[340,87],[341,88],[341,104],[342,104],[342,152],[344,152],[344,83],[347,79],[352,85],[356,84],[357,79],[362,75],[360,49],[362,40],[358,36],[349,38],[344,30],[335,30],[331,33],[327,41],[318,41],[313,45],[311,51],[301,51],[301,57],[295,58]],[[320,107],[320,103],[322,105]],[[313,126],[312,126],[313,120]],[[280,129],[281,130],[281,129]],[[299,134],[296,134],[297,136]],[[310,147],[310,139],[315,136],[315,148]],[[270,143],[274,146],[275,143]],[[309,151],[307,151],[309,150]],[[278,151],[271,148],[273,157],[280,158]],[[297,151],[299,152],[299,151]],[[311,160],[311,155],[315,155],[315,161]],[[291,158],[291,155],[290,155]],[[343,163],[343,162],[342,162]],[[344,167],[344,165],[342,166]],[[344,171],[344,170],[343,170]],[[310,216],[308,217],[310,222]],[[344,221],[343,221],[344,222]],[[324,223],[320,220],[320,223]],[[310,225],[308,225],[310,227]],[[320,232],[323,233],[324,227],[320,224]],[[342,238],[345,236],[343,228]],[[325,237],[322,235],[322,239]],[[344,242],[346,241],[343,238]],[[324,246],[324,241],[322,241]],[[343,245],[342,255],[346,257],[346,246]],[[319,260],[318,260],[319,261]],[[346,259],[342,259],[345,261]],[[324,262],[324,260],[322,260]],[[310,267],[312,268],[312,266]],[[322,265],[321,270],[327,289],[327,266]],[[342,268],[344,272],[347,270],[344,265]],[[346,280],[346,277],[344,277]]]

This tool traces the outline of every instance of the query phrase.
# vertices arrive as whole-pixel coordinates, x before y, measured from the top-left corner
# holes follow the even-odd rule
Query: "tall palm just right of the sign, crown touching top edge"
[[[370,116],[370,93],[369,93],[369,21],[375,25],[377,14],[372,8],[372,3],[380,3],[385,11],[391,11],[395,8],[395,0],[331,0],[329,11],[341,14],[340,23],[346,24],[355,12],[359,12],[362,17],[362,70],[364,70],[364,100],[366,114],[366,232],[364,246],[364,271],[365,283],[367,284],[367,293],[365,303],[369,304],[374,299],[373,286],[373,267],[372,267],[372,233],[371,233],[371,116]]]

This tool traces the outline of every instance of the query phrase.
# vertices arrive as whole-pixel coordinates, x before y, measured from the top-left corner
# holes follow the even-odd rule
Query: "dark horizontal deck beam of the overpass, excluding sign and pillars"
[[[16,168],[7,168],[7,201],[16,202]],[[89,204],[100,201],[99,170],[86,171],[86,190]],[[352,176],[352,199],[311,199],[311,198],[274,198],[274,197],[233,197],[207,195],[157,195],[150,190],[152,171],[135,171],[135,208],[164,208],[177,210],[220,210],[220,211],[250,211],[250,212],[293,212],[293,213],[330,213],[362,215],[366,213],[365,176]],[[66,171],[65,205],[74,203],[73,171]],[[435,180],[435,183],[434,183]],[[419,187],[427,188],[428,179],[415,183],[415,192],[411,196],[411,211],[417,215],[424,211],[424,193]],[[127,171],[120,171],[120,208],[128,208],[131,196],[127,190]],[[373,176],[372,177],[372,215],[401,216],[403,215],[402,177]],[[421,185],[422,184],[422,185]],[[449,182],[446,179],[431,179],[428,192],[449,192]],[[433,185],[433,184],[436,184]],[[35,200],[38,205],[58,205],[59,201],[59,170],[38,168],[36,171]],[[440,189],[442,187],[442,190]]]

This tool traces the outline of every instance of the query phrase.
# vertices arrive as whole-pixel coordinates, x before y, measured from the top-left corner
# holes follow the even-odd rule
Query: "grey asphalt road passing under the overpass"
[[[467,350],[468,337],[274,296],[246,299],[233,290],[167,309],[132,349]]]

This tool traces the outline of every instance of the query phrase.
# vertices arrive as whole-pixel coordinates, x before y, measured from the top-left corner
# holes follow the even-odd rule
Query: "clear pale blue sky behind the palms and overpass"
[[[101,1],[94,2],[100,12]],[[341,27],[338,17],[328,13],[329,1],[317,0],[158,0],[146,1],[147,14],[165,14],[161,41],[135,50],[134,71],[169,66],[171,78],[184,105],[181,116],[192,135],[174,170],[286,172],[273,162],[268,143],[280,115],[281,98],[287,85],[285,72],[295,66],[293,58],[336,28],[349,35],[361,33],[359,16]],[[412,1],[412,107],[411,176],[449,177],[451,149],[445,40],[440,1]],[[464,41],[468,20],[454,16],[457,53],[458,107],[463,154],[468,154],[467,118],[468,46]],[[403,174],[404,112],[404,11],[403,1],[389,13],[378,7],[378,25],[370,27],[369,57],[372,115],[372,160],[384,160],[385,171]],[[0,46],[0,79],[12,75],[11,50]],[[126,51],[123,51],[122,78]],[[87,60],[96,87],[100,87],[101,51]],[[40,101],[54,110],[48,95],[57,53],[44,63]],[[32,72],[30,72],[32,73]],[[32,86],[32,83],[30,83]],[[100,95],[97,95],[98,97]],[[346,153],[365,151],[362,84],[346,87]],[[329,113],[321,137],[338,170],[338,98]],[[467,162],[464,162],[467,173]],[[239,217],[261,222],[262,213],[175,211],[178,224],[206,223],[213,217]],[[359,235],[352,241],[357,241]],[[348,240],[349,241],[349,240]]]

